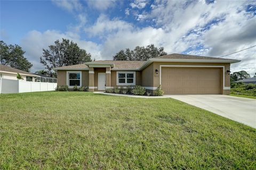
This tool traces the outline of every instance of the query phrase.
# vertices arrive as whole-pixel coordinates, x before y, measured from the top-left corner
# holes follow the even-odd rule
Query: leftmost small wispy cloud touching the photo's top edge
[[[52,0],[52,2],[68,12],[81,11],[83,8],[79,1]]]

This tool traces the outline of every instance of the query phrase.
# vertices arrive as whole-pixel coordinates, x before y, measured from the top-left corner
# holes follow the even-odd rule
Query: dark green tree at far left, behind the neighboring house
[[[3,65],[9,65],[15,69],[29,72],[29,69],[33,66],[27,58],[23,55],[25,52],[20,46],[7,45],[4,41],[0,41],[0,63]]]

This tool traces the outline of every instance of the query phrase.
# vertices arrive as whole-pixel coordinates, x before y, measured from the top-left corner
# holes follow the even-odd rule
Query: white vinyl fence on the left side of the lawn
[[[53,91],[57,83],[31,82],[22,80],[0,79],[0,94],[15,94],[19,92]]]

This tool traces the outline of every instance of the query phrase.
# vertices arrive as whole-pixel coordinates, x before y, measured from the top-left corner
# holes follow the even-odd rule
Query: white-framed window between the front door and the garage
[[[117,85],[135,85],[135,72],[117,72]]]

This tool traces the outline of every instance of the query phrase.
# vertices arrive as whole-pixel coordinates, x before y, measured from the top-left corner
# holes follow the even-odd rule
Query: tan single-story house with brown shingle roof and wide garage
[[[54,70],[58,85],[88,86],[90,91],[139,85],[153,94],[161,84],[165,94],[229,94],[230,64],[237,62],[170,54],[147,61],[95,61]]]

